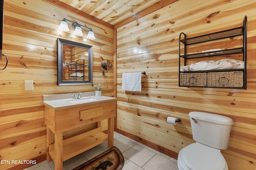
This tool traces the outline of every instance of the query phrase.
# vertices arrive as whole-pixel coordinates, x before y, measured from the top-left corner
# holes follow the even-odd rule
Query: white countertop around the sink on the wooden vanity
[[[117,100],[117,98],[112,98],[112,97],[108,97],[108,96],[86,96],[86,97],[82,97],[80,99],[84,99],[84,98],[94,98],[97,100],[74,104],[74,103],[67,101],[67,100],[72,100],[72,98],[67,98],[67,99],[44,101],[44,104],[46,106],[52,107],[55,110],[59,110],[59,109],[67,109],[67,108],[72,108],[72,107],[86,106],[86,105],[90,105],[90,104],[98,104],[98,103],[102,103],[102,102],[110,102],[110,101]],[[79,100],[79,99],[76,99],[76,100]]]

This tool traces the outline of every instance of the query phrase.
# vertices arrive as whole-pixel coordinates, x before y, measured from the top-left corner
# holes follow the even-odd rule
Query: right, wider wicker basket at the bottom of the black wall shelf
[[[212,87],[243,87],[244,72],[209,72],[207,75],[207,86]]]

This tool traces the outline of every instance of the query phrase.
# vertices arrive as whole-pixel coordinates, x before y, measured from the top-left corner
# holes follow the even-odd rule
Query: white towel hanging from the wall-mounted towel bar
[[[122,90],[141,92],[141,72],[123,73]]]

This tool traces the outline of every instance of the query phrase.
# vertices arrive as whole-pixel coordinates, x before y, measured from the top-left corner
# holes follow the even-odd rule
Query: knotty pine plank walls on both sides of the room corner
[[[9,64],[0,70],[0,160],[45,160],[42,96],[93,89],[91,85],[56,85],[57,37],[83,42],[79,37],[71,38],[72,29],[58,34],[60,21],[67,18],[94,31],[96,39],[85,43],[93,45],[94,84],[102,84],[104,96],[115,93],[113,79],[117,74],[117,131],[176,158],[180,149],[194,142],[190,111],[226,115],[235,122],[229,147],[222,150],[230,170],[256,169],[255,0],[179,0],[118,27],[114,30],[117,37],[112,28],[44,1],[4,2],[3,53]],[[180,32],[194,36],[237,27],[245,15],[250,65],[247,90],[178,87]],[[115,43],[117,51],[113,52]],[[115,53],[117,73],[109,71],[103,77],[100,63],[113,61]],[[1,68],[3,63],[4,59]],[[122,73],[143,71],[142,92],[124,92]],[[34,80],[34,91],[24,91],[24,80]],[[180,117],[182,122],[169,125],[167,115]],[[0,169],[10,166],[0,164]]]

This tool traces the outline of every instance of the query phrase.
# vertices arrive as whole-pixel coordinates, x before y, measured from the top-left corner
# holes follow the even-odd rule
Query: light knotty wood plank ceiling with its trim
[[[64,8],[64,4],[71,6],[90,16],[116,25],[124,21],[131,21],[163,8],[177,0],[44,0]],[[66,6],[65,6],[66,7]],[[70,9],[67,9],[72,11]],[[144,14],[139,15],[143,11]],[[74,10],[73,10],[74,11]]]

